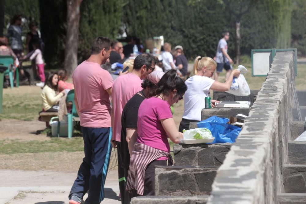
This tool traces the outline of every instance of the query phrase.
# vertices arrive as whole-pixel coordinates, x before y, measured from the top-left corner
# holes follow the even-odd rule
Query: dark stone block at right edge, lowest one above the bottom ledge
[[[283,165],[285,193],[306,193],[306,165]]]

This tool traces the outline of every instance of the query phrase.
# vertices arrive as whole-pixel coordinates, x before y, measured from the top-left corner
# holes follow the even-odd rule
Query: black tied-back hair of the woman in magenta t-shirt
[[[148,97],[160,94],[169,96],[170,91],[173,91],[174,89],[176,89],[178,94],[184,95],[187,91],[187,86],[185,82],[177,76],[176,70],[170,69],[162,76],[156,84],[156,87],[150,90]]]

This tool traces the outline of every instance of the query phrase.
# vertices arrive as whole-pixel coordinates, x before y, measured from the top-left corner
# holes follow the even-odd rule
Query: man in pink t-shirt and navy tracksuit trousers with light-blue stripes
[[[101,68],[110,56],[111,41],[97,37],[91,56],[73,72],[74,102],[80,117],[85,157],[69,194],[69,204],[98,204],[104,199],[104,184],[112,145],[111,106],[113,78]],[[88,198],[83,196],[88,191]]]

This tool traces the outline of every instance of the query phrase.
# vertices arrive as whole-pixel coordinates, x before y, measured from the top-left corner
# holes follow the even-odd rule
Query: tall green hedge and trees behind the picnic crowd
[[[238,3],[232,0],[231,9]],[[241,54],[249,55],[251,49],[297,47],[299,54],[305,55],[305,8],[304,0],[258,0],[241,18]],[[6,1],[6,24],[15,13],[40,23],[48,67],[62,66],[66,1]],[[115,39],[122,30],[144,44],[148,37],[163,35],[173,46],[182,45],[187,58],[193,59],[214,57],[220,34],[227,29],[231,34],[229,54],[235,57],[236,19],[222,0],[90,0],[81,3],[80,13],[79,62],[90,54],[95,37]]]

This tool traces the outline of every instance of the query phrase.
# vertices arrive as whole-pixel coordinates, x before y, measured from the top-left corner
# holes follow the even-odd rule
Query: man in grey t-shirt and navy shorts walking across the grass
[[[231,65],[233,63],[233,60],[227,54],[227,43],[226,43],[226,41],[228,41],[230,38],[230,33],[228,31],[223,31],[222,36],[223,38],[219,40],[217,53],[216,53],[217,69],[214,77],[216,81],[218,81],[219,74],[222,72],[223,68],[226,70],[225,80],[228,79],[233,69]]]

